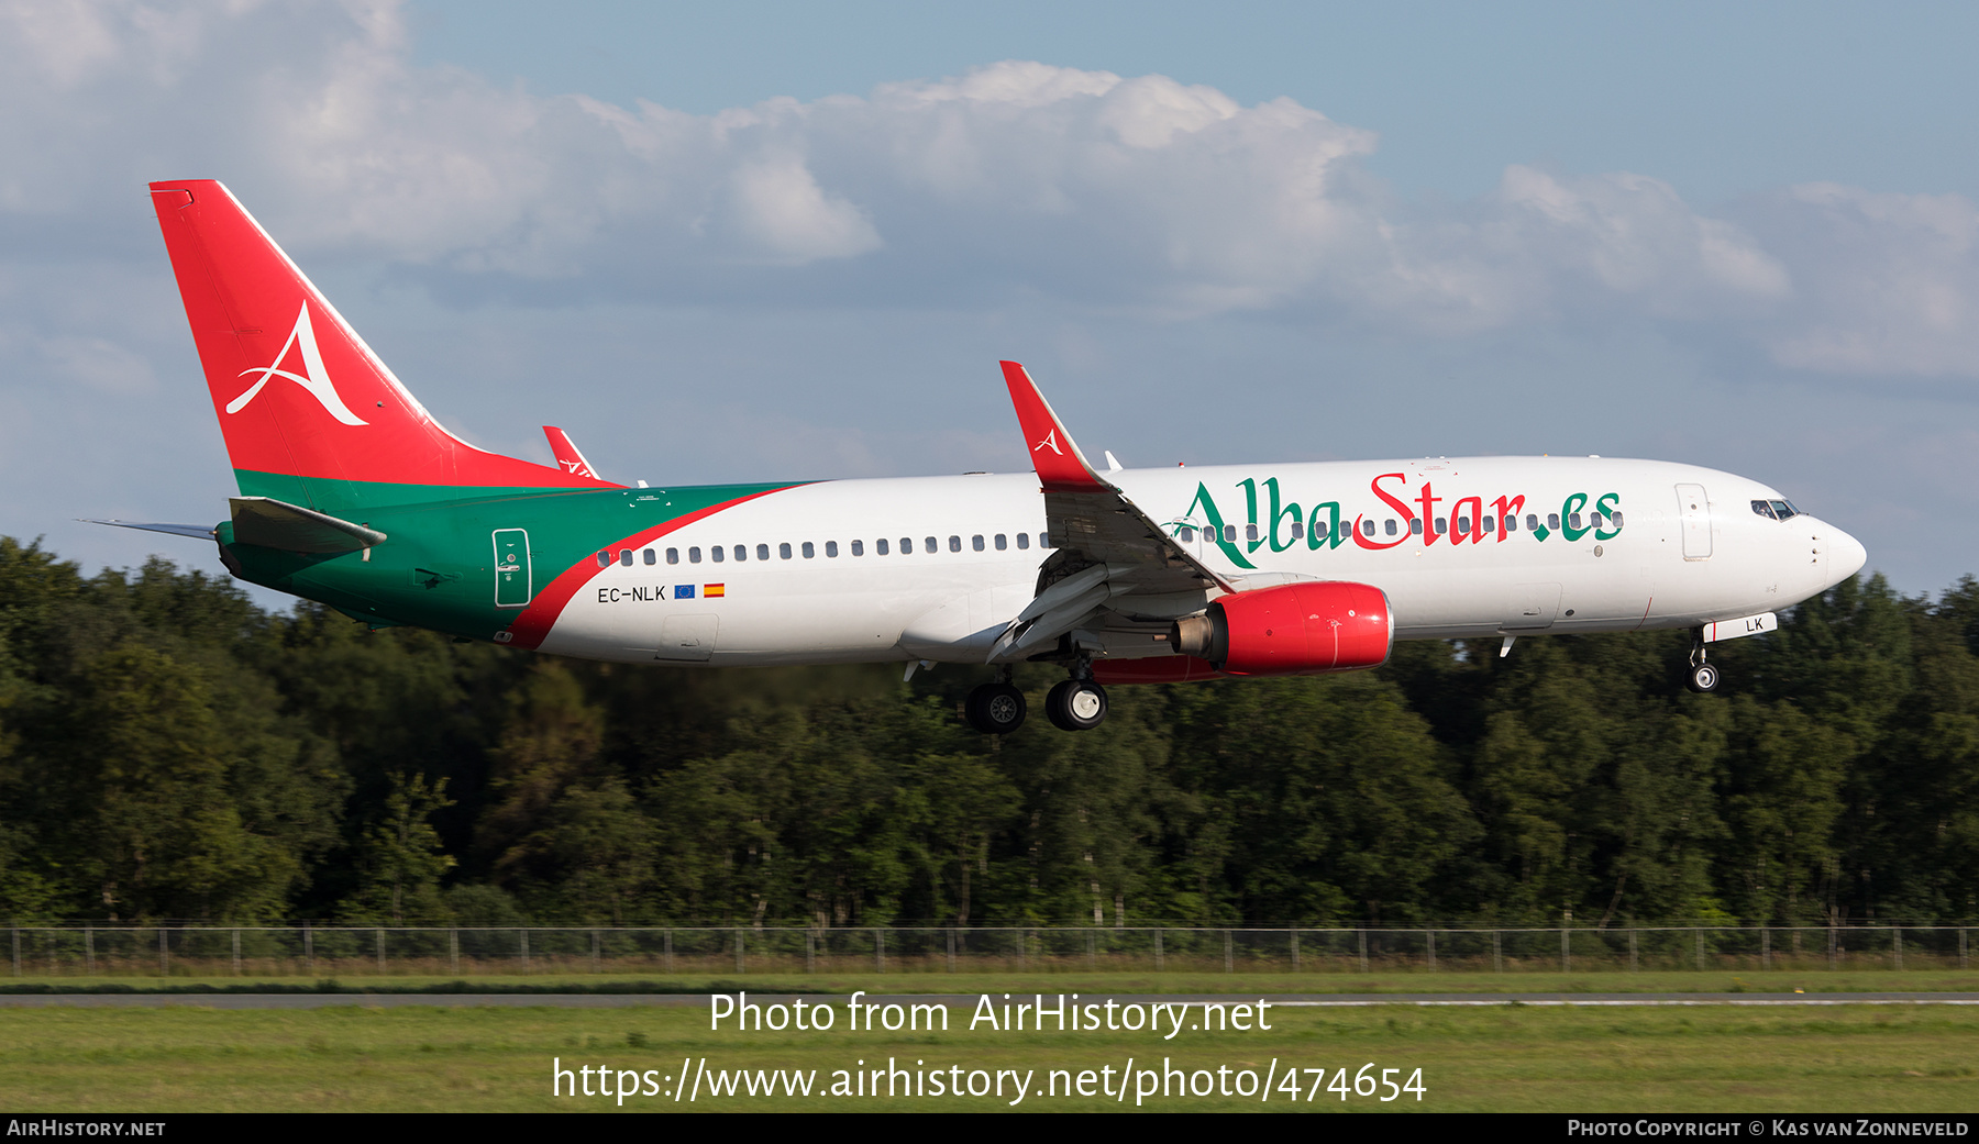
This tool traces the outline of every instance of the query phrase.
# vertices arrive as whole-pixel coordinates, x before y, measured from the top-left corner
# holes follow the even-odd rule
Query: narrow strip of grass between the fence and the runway
[[[313,992],[329,982],[305,978],[0,978],[8,992]],[[610,976],[528,974],[475,978],[366,976],[334,978],[340,992],[665,992],[707,994],[1912,994],[1979,992],[1979,970],[1809,970],[1785,972],[1373,972],[1373,974],[746,974],[746,976]]]

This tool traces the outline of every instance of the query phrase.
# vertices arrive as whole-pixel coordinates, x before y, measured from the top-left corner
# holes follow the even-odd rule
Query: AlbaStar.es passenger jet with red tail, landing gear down
[[[1862,568],[1779,491],[1694,465],[1427,457],[1106,467],[1001,362],[1031,471],[647,487],[477,449],[439,426],[212,180],[150,184],[239,485],[228,572],[370,623],[681,667],[984,669],[966,718],[1027,716],[1013,665],[1065,669],[1045,713],[1106,687],[1381,665],[1397,639],[1690,629],[1710,645]]]

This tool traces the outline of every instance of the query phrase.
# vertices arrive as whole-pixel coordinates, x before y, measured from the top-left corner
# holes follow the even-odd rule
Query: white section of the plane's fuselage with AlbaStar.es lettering
[[[1187,550],[1239,590],[1292,578],[1381,588],[1397,639],[1696,627],[1783,610],[1866,560],[1815,517],[1753,513],[1751,501],[1781,499],[1775,489],[1662,461],[1328,461],[1106,479],[1172,536],[1193,536]],[[542,651],[714,667],[984,663],[1037,592],[1045,530],[1033,473],[800,485],[681,526],[651,544],[653,564],[641,550],[600,570]],[[1102,633],[1106,655],[1170,653],[1156,625],[1215,594],[1118,598],[1144,627]],[[703,633],[701,651],[657,653],[679,645],[669,623]]]

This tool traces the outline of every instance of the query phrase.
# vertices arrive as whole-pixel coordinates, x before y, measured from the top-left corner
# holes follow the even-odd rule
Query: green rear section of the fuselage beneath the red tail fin
[[[344,481],[329,483],[342,489],[327,497],[323,481],[305,489],[297,477],[269,473],[239,473],[239,485],[243,495],[305,505],[386,534],[366,560],[362,552],[305,554],[236,544],[234,524],[222,524],[220,544],[243,580],[358,620],[491,639],[518,614],[495,608],[497,530],[528,532],[530,594],[536,596],[564,568],[592,560],[623,536],[710,505],[788,489],[794,481],[689,489],[473,489],[471,497],[459,487]],[[297,499],[307,493],[317,493],[315,503]]]

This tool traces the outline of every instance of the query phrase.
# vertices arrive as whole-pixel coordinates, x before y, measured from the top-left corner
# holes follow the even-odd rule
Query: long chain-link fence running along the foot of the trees
[[[1967,926],[12,926],[16,978],[1967,968]]]

